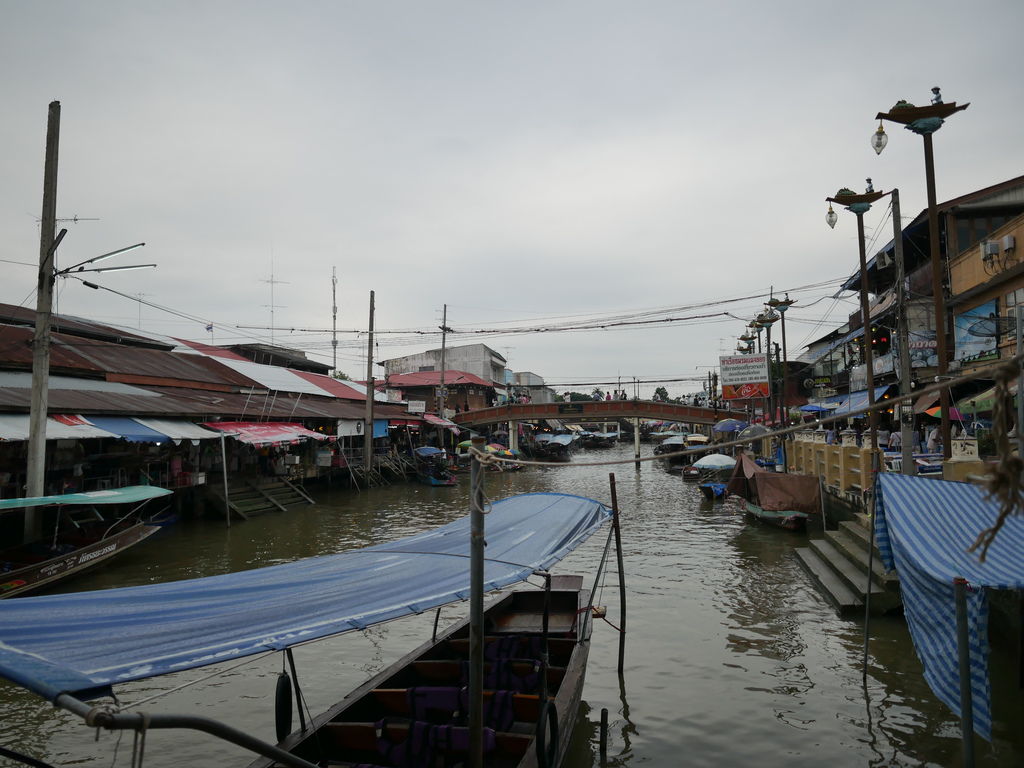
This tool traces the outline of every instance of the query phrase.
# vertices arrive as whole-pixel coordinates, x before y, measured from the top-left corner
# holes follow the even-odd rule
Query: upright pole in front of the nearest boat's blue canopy
[[[482,452],[484,438],[473,438]],[[483,766],[483,465],[474,453],[470,464],[469,541],[469,760]]]

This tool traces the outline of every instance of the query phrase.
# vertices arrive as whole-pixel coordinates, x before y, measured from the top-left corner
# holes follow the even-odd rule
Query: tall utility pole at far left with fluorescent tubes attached
[[[39,227],[39,276],[36,294],[36,333],[32,342],[32,404],[29,417],[27,496],[44,496],[46,474],[46,413],[50,382],[50,312],[53,306],[53,254],[57,210],[57,147],[60,143],[60,102],[51,101],[46,121],[46,161],[43,170],[43,212]],[[27,539],[38,537],[40,520],[33,510],[25,515]]]

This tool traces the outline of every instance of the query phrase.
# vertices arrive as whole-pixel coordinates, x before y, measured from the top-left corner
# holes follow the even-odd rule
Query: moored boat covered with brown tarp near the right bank
[[[752,517],[787,530],[803,530],[808,518],[821,514],[817,476],[769,472],[746,454],[736,461],[728,492],[743,500]]]

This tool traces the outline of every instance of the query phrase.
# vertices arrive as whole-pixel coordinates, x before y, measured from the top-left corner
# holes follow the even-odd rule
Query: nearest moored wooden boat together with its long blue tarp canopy
[[[485,765],[557,766],[580,708],[591,605],[582,578],[544,569],[611,514],[599,502],[562,494],[495,502],[486,557],[477,561],[482,572],[472,578],[467,553],[471,562],[477,557],[470,532],[479,513],[400,541],[264,568],[5,601],[0,676],[92,727],[201,730],[262,756],[253,763],[260,768],[408,766],[423,756],[438,761],[429,765],[453,765],[474,745]],[[471,628],[463,622],[435,637],[312,720],[296,685],[294,732],[291,676],[283,673],[276,697],[268,697],[276,745],[203,716],[143,715],[117,699],[89,703],[113,696],[116,684],[268,651],[283,651],[294,676],[294,645],[465,599],[467,581],[471,593],[474,583],[495,591],[538,572],[546,588],[502,593],[485,613],[471,609]],[[463,693],[467,670],[481,706]]]

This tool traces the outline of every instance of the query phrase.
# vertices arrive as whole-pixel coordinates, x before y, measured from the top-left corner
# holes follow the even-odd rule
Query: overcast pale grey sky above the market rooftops
[[[0,302],[35,307],[57,100],[57,268],[139,242],[108,263],[158,264],[61,280],[58,312],[332,365],[336,275],[356,379],[373,291],[378,360],[439,347],[446,305],[447,344],[557,391],[696,391],[770,291],[797,299],[790,358],[857,310],[834,298],[855,219],[829,229],[826,197],[871,177],[905,221],[927,205],[921,139],[890,124],[876,157],[877,113],[933,86],[971,103],[935,136],[940,201],[1024,173],[1020,0],[0,0]],[[865,224],[870,254],[885,205]]]

